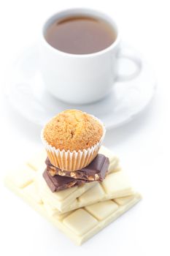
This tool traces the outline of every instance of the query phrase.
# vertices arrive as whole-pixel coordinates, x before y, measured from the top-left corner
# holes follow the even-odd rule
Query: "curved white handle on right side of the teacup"
[[[133,80],[134,78],[138,77],[139,74],[142,71],[142,60],[140,57],[137,55],[137,53],[134,53],[132,50],[129,50],[128,47],[121,47],[119,48],[117,52],[117,59],[128,59],[135,64],[135,69],[134,72],[131,74],[117,74],[115,81],[117,82],[126,82],[128,80]]]

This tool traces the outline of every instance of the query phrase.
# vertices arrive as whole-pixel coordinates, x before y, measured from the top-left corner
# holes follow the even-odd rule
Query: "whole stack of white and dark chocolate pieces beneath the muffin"
[[[141,198],[120,169],[117,157],[103,146],[88,167],[75,172],[77,178],[70,177],[71,173],[65,171],[62,172],[64,176],[58,176],[61,170],[53,167],[48,159],[45,170],[45,157],[45,151],[42,151],[9,173],[7,187],[76,244],[94,236]],[[94,181],[90,181],[92,177]],[[72,181],[68,181],[70,178]],[[73,181],[84,184],[78,187]],[[55,191],[59,189],[62,190]]]

